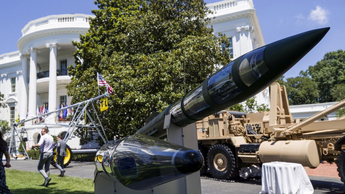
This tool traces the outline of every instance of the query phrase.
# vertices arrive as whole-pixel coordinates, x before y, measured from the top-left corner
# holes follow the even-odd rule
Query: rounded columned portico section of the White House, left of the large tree
[[[67,66],[75,66],[73,41],[85,35],[92,15],[62,14],[30,21],[22,29],[17,42],[18,51],[0,55],[0,92],[7,108],[1,108],[1,119],[13,123],[14,119],[32,118],[37,110],[47,107],[54,111],[60,105],[70,105],[66,85],[70,82]],[[40,110],[42,112],[42,110]],[[51,118],[58,122],[57,116]],[[37,143],[42,125],[26,123],[29,144]],[[50,127],[57,135],[64,127]],[[77,137],[75,137],[77,138]],[[68,142],[71,148],[80,148],[79,140]]]

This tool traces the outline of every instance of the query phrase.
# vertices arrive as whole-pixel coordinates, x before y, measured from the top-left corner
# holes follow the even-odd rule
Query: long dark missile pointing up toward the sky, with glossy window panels
[[[320,28],[278,40],[225,65],[141,127],[136,134],[161,137],[166,115],[179,127],[241,103],[268,87],[302,59],[326,35]]]

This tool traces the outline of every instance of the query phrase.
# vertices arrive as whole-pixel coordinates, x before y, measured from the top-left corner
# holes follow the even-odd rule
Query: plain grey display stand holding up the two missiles
[[[186,127],[178,127],[170,121],[170,114],[165,116],[164,128],[167,130],[167,141],[198,150],[196,124],[192,123]],[[178,178],[165,184],[161,184],[144,191],[137,191],[127,188],[118,181],[105,178],[95,170],[95,194],[199,194],[201,193],[200,172],[197,171],[185,177]]]

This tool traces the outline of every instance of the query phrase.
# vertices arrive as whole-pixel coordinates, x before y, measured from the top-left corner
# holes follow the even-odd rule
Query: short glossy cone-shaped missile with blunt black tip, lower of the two
[[[143,134],[107,142],[95,157],[101,176],[133,190],[146,190],[197,172],[203,162],[196,150]]]

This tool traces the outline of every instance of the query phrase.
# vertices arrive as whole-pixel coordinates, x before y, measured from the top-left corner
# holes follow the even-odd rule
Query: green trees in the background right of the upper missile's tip
[[[286,86],[290,105],[340,101],[345,98],[345,51],[328,52],[299,76],[277,82]]]

